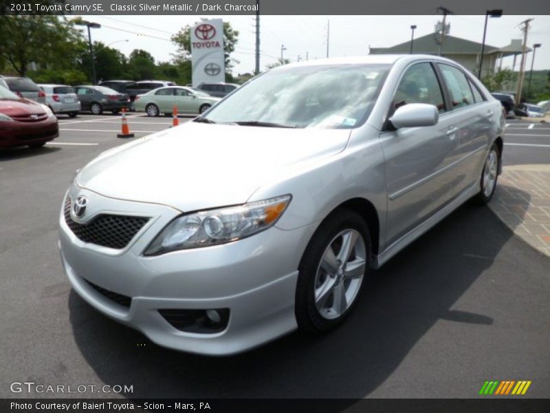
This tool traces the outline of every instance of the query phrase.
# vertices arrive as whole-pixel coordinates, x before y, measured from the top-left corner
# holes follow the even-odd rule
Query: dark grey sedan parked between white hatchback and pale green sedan
[[[104,110],[118,114],[123,107],[128,107],[130,98],[116,90],[104,86],[79,85],[74,87],[83,111],[100,115]]]

